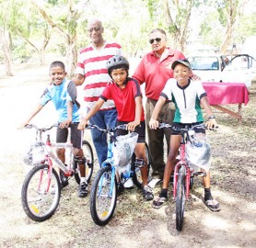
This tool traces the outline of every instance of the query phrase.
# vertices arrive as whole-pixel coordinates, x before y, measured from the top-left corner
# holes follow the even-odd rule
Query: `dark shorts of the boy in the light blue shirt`
[[[75,148],[82,147],[82,131],[77,130],[78,122],[72,123],[69,128],[71,130],[70,141]],[[68,128],[61,129],[60,126],[57,128],[56,142],[65,143],[68,137]]]

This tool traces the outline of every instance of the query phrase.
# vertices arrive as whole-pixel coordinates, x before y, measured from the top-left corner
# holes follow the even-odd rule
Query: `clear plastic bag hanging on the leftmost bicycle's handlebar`
[[[43,143],[37,141],[30,145],[29,151],[23,157],[23,162],[32,165],[35,163],[41,163],[44,160],[45,152],[43,148]]]

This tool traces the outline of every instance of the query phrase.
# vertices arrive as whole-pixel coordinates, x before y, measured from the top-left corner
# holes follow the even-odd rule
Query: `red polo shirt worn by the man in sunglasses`
[[[169,78],[173,77],[172,62],[185,59],[177,50],[170,48],[167,57],[160,61],[151,51],[143,57],[133,77],[142,85],[145,82],[145,96],[157,100]]]

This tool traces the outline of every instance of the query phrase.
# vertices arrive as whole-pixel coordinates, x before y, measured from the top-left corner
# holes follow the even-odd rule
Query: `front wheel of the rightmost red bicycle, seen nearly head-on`
[[[179,177],[177,182],[177,193],[176,193],[176,229],[177,231],[182,230],[184,207],[185,207],[185,173],[181,167],[179,170]]]

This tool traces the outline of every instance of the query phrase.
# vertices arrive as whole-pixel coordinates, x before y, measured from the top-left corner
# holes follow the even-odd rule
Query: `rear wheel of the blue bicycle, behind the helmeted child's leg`
[[[151,175],[151,170],[150,170],[151,157],[150,157],[149,149],[146,142],[145,142],[145,158],[147,161],[147,179],[148,179],[148,177]],[[134,168],[133,181],[135,186],[137,186],[138,188],[141,188],[143,186],[141,171],[139,167],[134,166],[134,161],[135,161],[135,155],[133,155],[133,158],[132,158],[132,168]]]

